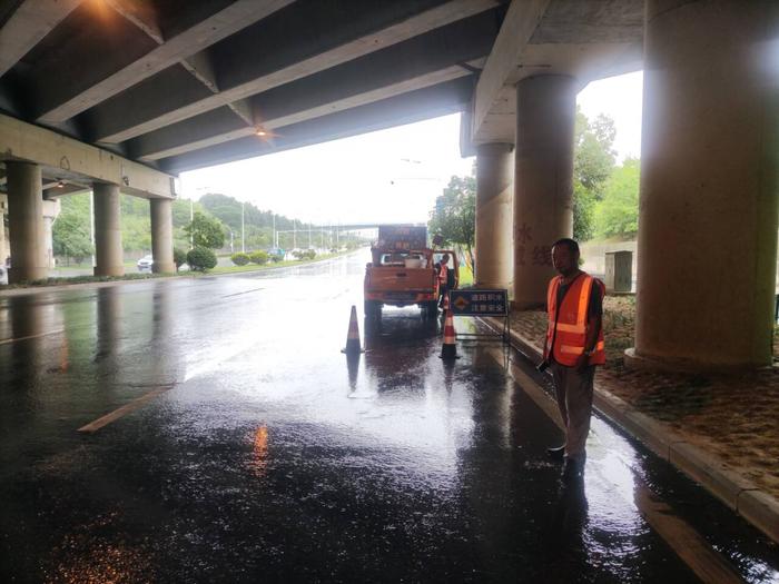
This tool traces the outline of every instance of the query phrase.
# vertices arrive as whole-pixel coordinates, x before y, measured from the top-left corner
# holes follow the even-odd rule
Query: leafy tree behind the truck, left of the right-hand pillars
[[[461,245],[473,265],[476,236],[476,177],[452,177],[443,194],[435,199],[427,228],[441,235],[445,245]]]

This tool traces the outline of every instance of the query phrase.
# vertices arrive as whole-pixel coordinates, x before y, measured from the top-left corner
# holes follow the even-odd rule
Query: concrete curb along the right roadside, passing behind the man
[[[503,323],[484,318],[491,326]],[[511,329],[512,344],[522,354],[541,360],[541,349]],[[638,412],[623,399],[595,384],[598,412],[641,441],[650,451],[668,461],[722,501],[736,513],[779,543],[779,499],[733,472],[718,456],[686,442],[679,433]]]

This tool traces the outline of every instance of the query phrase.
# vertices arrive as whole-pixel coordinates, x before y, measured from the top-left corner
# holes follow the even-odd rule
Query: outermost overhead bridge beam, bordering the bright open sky
[[[473,79],[455,79],[375,103],[287,126],[268,139],[252,136],[165,158],[160,160],[160,168],[168,172],[180,172],[455,113],[464,111],[470,106],[472,95]]]

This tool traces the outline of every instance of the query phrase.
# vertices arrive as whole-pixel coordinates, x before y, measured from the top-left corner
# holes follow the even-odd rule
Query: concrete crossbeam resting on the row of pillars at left
[[[122,192],[138,197],[176,196],[170,175],[3,115],[0,160],[36,162],[56,169],[62,177],[119,185]]]

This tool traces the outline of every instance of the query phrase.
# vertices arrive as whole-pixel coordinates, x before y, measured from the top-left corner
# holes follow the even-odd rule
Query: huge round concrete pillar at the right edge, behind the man
[[[625,360],[770,365],[779,3],[648,0],[645,16],[637,329]]]

